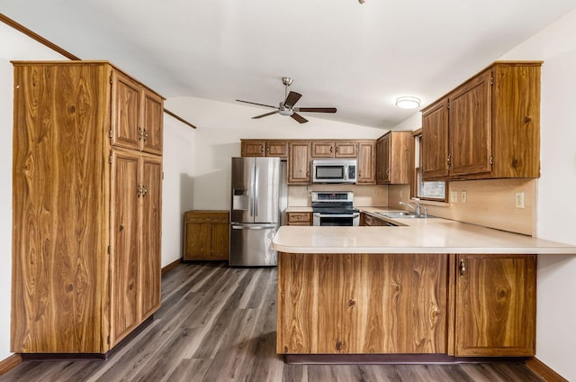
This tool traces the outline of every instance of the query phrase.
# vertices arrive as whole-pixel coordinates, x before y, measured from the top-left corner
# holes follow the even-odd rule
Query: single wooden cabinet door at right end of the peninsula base
[[[536,256],[459,255],[456,356],[533,356]]]

